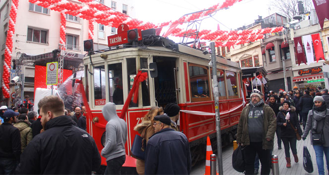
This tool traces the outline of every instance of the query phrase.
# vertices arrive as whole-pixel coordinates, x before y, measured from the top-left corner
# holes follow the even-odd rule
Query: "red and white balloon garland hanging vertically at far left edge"
[[[17,16],[18,0],[12,0],[9,12],[9,25],[4,50],[3,74],[2,74],[2,93],[5,98],[10,97],[9,78],[12,52],[12,39],[15,33],[15,24]]]

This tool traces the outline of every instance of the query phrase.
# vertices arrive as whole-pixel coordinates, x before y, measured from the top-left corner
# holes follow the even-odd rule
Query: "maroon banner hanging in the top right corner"
[[[313,0],[313,4],[319,18],[321,29],[323,29],[325,18],[329,19],[329,0]]]

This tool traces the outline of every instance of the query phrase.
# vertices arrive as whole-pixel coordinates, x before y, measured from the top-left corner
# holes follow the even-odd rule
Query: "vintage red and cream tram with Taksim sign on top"
[[[123,35],[127,36],[127,31],[125,32]],[[119,46],[95,52],[84,58],[84,84],[92,111],[92,115],[87,115],[87,131],[94,137],[101,151],[105,144],[107,124],[102,115],[103,106],[107,102],[115,103],[117,114],[120,116],[134,78],[139,70],[143,70],[149,76],[139,83],[138,100],[136,103],[131,100],[123,118],[128,128],[125,145],[127,158],[129,159],[129,150],[135,134],[138,134],[133,128],[141,122],[149,109],[152,106],[165,107],[168,103],[177,103],[181,108],[177,124],[190,142],[195,163],[204,159],[207,135],[213,140],[213,148],[217,148],[210,54],[204,54],[201,49],[175,44],[166,38],[147,34],[137,37],[136,41],[123,45],[120,43]],[[118,34],[116,37],[123,35]],[[111,42],[113,41],[115,43],[119,40]],[[221,141],[222,145],[225,145],[235,136],[244,105],[241,69],[236,62],[219,56],[216,59]],[[150,63],[153,64],[152,68],[156,64],[156,76],[151,76],[147,70],[150,69]],[[210,113],[214,115],[209,115]],[[134,161],[128,159],[124,166],[133,167]],[[105,158],[102,158],[102,165],[106,165]]]

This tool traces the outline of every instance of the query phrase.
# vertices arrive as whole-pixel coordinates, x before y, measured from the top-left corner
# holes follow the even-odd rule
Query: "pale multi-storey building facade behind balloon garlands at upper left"
[[[84,5],[78,0],[69,0],[79,5]],[[111,7],[131,17],[135,16],[133,0],[100,0],[99,3]],[[0,1],[0,55],[1,64],[4,61],[4,49],[8,31],[8,20],[11,0]],[[77,16],[65,15],[66,18],[66,41],[65,50],[72,53],[85,54],[83,41],[88,40],[89,21]],[[107,36],[116,34],[117,26],[94,25],[94,50],[108,48]],[[60,12],[33,4],[28,0],[19,0],[15,34],[13,36],[13,49],[11,60],[18,59],[19,53],[26,55],[40,55],[52,52],[58,48],[60,39]],[[11,64],[10,79],[19,76]],[[2,80],[3,67],[0,66],[0,79]],[[31,99],[34,96],[35,71],[33,64],[24,65],[21,68],[24,74],[24,95],[28,94]],[[2,93],[1,93],[2,95]]]

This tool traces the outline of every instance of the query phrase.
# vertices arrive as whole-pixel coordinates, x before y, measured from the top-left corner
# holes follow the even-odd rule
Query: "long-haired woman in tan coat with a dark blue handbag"
[[[146,138],[146,144],[148,143],[149,138],[154,134],[154,117],[160,115],[160,113],[163,113],[163,111],[164,110],[158,106],[151,107],[150,111],[142,119],[142,122],[135,126],[134,131],[137,131],[142,138]],[[136,159],[136,170],[139,175],[144,175],[145,161]]]

